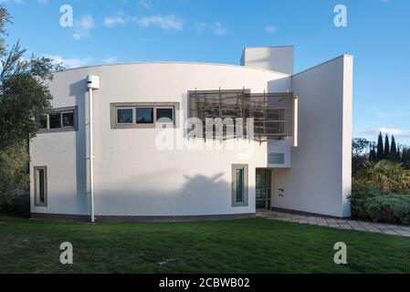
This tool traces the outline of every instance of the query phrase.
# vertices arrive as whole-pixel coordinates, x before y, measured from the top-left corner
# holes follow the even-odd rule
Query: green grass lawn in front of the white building
[[[59,263],[65,241],[72,266]],[[340,241],[347,266],[333,264]],[[410,273],[410,238],[262,218],[90,225],[0,217],[0,273]]]

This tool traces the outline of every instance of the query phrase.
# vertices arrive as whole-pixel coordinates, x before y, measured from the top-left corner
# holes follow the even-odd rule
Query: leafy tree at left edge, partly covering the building
[[[52,96],[45,84],[62,69],[47,57],[26,58],[17,43],[5,47],[5,24],[11,22],[0,6],[0,205],[26,189],[27,141],[36,135],[38,118],[47,113]]]

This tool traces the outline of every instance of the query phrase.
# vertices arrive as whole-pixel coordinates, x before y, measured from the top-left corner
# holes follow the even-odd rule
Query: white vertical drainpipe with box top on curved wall
[[[92,90],[100,89],[100,78],[98,76],[89,75],[87,78],[87,87],[89,89],[89,197],[91,206],[91,223],[94,223],[94,119],[92,112]]]

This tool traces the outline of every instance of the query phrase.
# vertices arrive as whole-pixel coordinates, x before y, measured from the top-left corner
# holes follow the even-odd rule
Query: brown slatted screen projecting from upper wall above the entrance
[[[251,93],[239,90],[189,91],[189,117],[206,119],[253,119],[253,139],[283,140],[295,136],[297,99],[292,92]],[[250,121],[249,121],[250,122]],[[244,125],[244,135],[252,138]],[[204,123],[205,132],[205,123]]]

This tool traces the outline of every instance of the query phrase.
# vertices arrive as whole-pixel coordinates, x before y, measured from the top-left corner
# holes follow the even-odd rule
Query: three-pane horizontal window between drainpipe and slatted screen
[[[178,128],[179,110],[179,102],[111,103],[111,129]]]

